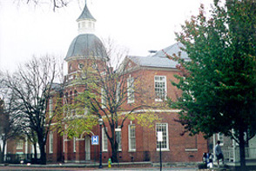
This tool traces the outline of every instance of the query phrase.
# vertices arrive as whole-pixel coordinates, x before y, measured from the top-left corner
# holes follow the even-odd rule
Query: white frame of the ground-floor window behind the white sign
[[[165,130],[166,130],[166,133],[163,131],[163,128],[158,128],[158,127],[165,127]],[[168,135],[168,123],[157,123],[156,124],[156,134],[157,134],[157,140],[158,140],[158,132],[160,132],[161,129],[161,132],[163,133],[163,141],[161,142],[161,150],[162,151],[169,151],[169,135]],[[158,131],[159,130],[159,131]],[[159,151],[160,148],[158,148],[158,144],[160,142],[157,141],[157,150]],[[163,146],[166,146],[165,148],[163,148]]]

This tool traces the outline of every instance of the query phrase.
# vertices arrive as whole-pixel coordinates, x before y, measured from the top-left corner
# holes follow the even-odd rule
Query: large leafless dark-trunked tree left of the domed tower
[[[45,143],[52,121],[52,117],[46,115],[46,108],[58,75],[56,66],[57,61],[52,56],[33,57],[5,79],[6,87],[15,96],[13,120],[37,135],[42,164],[46,163]]]

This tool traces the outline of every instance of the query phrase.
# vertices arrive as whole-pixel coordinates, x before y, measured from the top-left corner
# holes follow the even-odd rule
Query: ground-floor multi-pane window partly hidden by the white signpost
[[[161,142],[161,149],[169,150],[168,124],[167,123],[157,123],[156,129],[157,129],[157,136],[158,136],[158,132],[162,132],[162,135],[163,135],[163,141]],[[159,150],[159,149],[160,149],[160,142],[157,141],[157,150]]]

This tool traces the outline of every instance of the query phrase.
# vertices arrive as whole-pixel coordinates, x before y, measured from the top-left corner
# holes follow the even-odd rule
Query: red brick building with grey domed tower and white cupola
[[[56,84],[52,91],[48,108],[50,115],[56,106],[57,95],[62,96],[64,104],[67,101],[72,102],[77,94],[84,91],[84,85],[72,82],[77,79],[80,70],[88,66],[100,68],[101,60],[107,58],[101,41],[94,35],[95,22],[95,18],[85,4],[82,14],[77,19],[78,36],[72,41],[64,59],[68,65],[68,74],[65,76],[64,83]],[[179,72],[176,69],[177,62],[168,59],[165,53],[170,55],[178,53],[180,46],[179,43],[175,43],[152,56],[125,57],[123,64],[125,63],[126,74],[130,78],[139,76],[141,89],[146,90],[143,97],[134,95],[132,99],[127,98],[127,102],[122,105],[125,111],[131,110],[133,104],[138,104],[143,100],[150,104],[160,104],[164,103],[167,97],[172,100],[176,99],[179,90],[172,86],[171,80],[175,81],[174,75]],[[187,58],[184,52],[181,56]],[[92,64],[92,58],[98,59],[98,66]],[[127,93],[129,93],[128,90]],[[139,109],[134,111],[137,114],[141,112]],[[175,122],[179,111],[177,109],[153,109],[152,112],[162,118],[161,122],[154,123],[153,128],[142,127],[138,121],[127,119],[123,127],[118,129],[120,131],[118,161],[158,162],[160,147],[157,141],[158,132],[163,133],[161,150],[164,162],[201,161],[202,154],[207,151],[207,141],[202,135],[180,135],[184,129],[179,122]],[[106,130],[111,129],[107,124],[105,127]],[[106,138],[104,128],[100,131],[98,126],[91,130],[91,134],[80,135],[72,139],[52,131],[46,145],[47,160],[52,162],[98,161],[100,148],[98,145],[91,145],[92,135],[102,137],[100,140],[102,141],[102,157],[103,162],[106,162],[111,157],[111,143]]]

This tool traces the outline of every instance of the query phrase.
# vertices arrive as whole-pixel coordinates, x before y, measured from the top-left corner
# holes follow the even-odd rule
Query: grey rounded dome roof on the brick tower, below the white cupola
[[[71,42],[67,56],[64,60],[69,60],[72,56],[97,56],[106,57],[106,52],[98,36],[94,34],[81,34],[76,36]]]

